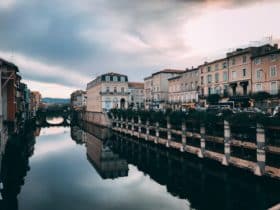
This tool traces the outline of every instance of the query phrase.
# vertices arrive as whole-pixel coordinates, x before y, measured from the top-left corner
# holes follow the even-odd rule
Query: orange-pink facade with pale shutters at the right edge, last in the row
[[[253,57],[252,62],[253,92],[265,91],[272,95],[280,89],[280,50]]]

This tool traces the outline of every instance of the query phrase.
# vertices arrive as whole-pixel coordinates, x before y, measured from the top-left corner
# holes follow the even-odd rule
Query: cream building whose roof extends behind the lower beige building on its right
[[[145,108],[165,109],[168,103],[168,79],[183,73],[183,70],[164,69],[144,79]]]

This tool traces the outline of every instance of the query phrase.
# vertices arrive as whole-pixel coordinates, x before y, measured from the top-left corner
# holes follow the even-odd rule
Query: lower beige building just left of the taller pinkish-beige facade
[[[168,104],[172,109],[187,108],[198,102],[199,71],[186,69],[178,76],[168,79]]]

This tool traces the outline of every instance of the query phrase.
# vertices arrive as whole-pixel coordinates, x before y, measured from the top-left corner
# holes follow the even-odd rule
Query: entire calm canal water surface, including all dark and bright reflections
[[[89,125],[11,139],[1,178],[0,209],[266,209],[280,202],[279,182]]]

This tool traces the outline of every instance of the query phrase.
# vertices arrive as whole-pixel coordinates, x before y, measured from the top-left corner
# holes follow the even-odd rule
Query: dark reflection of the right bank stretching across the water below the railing
[[[83,124],[82,127],[72,127],[72,132],[78,134],[72,134],[72,137],[86,143],[88,159],[102,178],[106,176],[100,165],[102,162],[106,164],[107,158],[112,156],[123,165],[126,162],[135,165],[151,179],[166,186],[173,196],[188,200],[194,209],[258,210],[280,201],[279,180],[256,177],[241,169],[224,167],[144,140],[117,133],[108,135],[109,130],[93,125]],[[118,165],[118,161],[113,165]],[[112,167],[110,173],[115,170],[118,174],[119,169]],[[121,170],[122,175],[127,174],[125,166]]]

